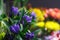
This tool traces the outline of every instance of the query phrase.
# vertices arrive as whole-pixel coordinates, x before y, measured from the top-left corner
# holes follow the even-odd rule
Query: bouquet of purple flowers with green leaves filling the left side
[[[35,32],[30,29],[35,23],[35,13],[29,12],[25,5],[21,8],[13,5],[9,10],[8,15],[4,11],[0,15],[0,40],[35,40]]]

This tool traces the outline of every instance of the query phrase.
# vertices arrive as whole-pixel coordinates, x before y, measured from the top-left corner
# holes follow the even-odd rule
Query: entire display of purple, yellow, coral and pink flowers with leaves
[[[14,0],[8,15],[0,2],[0,40],[60,40],[60,9],[26,7],[27,1]]]

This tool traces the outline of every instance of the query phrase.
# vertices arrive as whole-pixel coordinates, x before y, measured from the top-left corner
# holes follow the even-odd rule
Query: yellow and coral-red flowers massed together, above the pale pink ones
[[[58,8],[45,10],[35,8],[33,10],[36,13],[36,19],[39,19],[37,20],[38,22],[36,23],[36,26],[45,27],[50,30],[60,30],[60,24],[58,20],[56,21],[56,19],[58,19],[58,14],[60,14]],[[41,18],[44,18],[44,21],[41,21]]]

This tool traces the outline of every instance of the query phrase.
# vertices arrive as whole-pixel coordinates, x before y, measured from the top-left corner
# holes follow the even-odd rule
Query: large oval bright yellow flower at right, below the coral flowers
[[[47,21],[45,27],[51,30],[59,30],[59,24],[53,21]]]

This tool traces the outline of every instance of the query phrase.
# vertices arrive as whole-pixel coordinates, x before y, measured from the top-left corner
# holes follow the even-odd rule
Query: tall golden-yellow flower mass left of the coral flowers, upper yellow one
[[[41,12],[41,10],[38,8],[34,8],[33,11],[36,14],[36,20],[37,21],[44,21],[45,20],[43,11]]]

